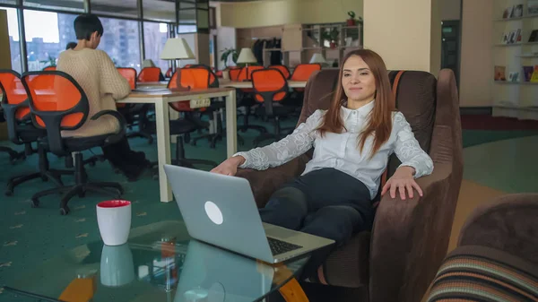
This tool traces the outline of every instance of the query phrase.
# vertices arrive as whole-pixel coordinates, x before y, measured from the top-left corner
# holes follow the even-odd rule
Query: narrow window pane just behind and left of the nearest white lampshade
[[[161,67],[162,74],[169,69],[169,61],[161,60],[161,51],[167,39],[167,23],[143,22],[144,59],[151,59],[157,67]]]

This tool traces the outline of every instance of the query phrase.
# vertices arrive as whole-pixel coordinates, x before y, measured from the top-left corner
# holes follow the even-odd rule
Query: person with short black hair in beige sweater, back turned
[[[60,54],[56,67],[58,71],[73,76],[81,85],[88,97],[89,116],[101,110],[116,110],[116,99],[124,99],[131,92],[129,82],[117,72],[107,53],[96,49],[103,31],[97,16],[82,14],[76,17],[74,32],[77,45]],[[62,136],[98,136],[118,131],[119,123],[114,116],[101,116],[96,120],[89,117],[81,127],[72,131],[65,130]],[[102,149],[104,157],[130,181],[136,180],[150,166],[143,152],[131,151],[126,138]]]

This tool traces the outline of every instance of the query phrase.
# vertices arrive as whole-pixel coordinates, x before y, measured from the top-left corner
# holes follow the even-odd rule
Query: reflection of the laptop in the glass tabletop
[[[250,302],[273,288],[274,269],[219,247],[190,240],[174,302]]]

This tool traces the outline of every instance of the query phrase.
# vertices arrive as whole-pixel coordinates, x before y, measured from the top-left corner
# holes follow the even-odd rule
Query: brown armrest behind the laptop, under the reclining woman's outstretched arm
[[[252,193],[256,200],[258,208],[265,206],[265,203],[271,197],[274,191],[285,183],[291,181],[304,171],[308,162],[308,156],[301,155],[296,159],[290,160],[282,166],[276,168],[268,168],[263,171],[254,170],[251,168],[239,168],[237,177],[243,177],[248,180]]]

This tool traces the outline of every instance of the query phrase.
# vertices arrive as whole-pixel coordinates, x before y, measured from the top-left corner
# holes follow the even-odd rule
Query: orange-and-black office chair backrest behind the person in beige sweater
[[[47,129],[50,151],[65,153],[61,131],[79,128],[90,111],[82,87],[71,75],[59,71],[24,73],[22,84],[29,95],[34,125]]]

